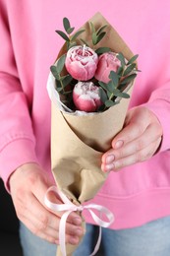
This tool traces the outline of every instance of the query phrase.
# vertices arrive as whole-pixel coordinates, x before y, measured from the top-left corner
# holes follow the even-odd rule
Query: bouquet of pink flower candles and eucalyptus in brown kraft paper
[[[100,169],[101,156],[123,127],[138,55],[99,13],[77,32],[67,18],[63,25],[65,32],[56,32],[65,43],[47,83],[52,101],[52,172],[64,203],[69,200],[73,208],[77,206],[73,211],[80,211],[83,218],[83,204],[109,178]],[[113,216],[103,212],[111,223]],[[60,228],[64,232],[63,222]],[[66,245],[67,255],[75,249]],[[59,248],[57,255],[62,254],[66,255],[65,249]]]

